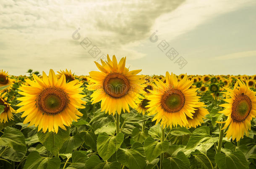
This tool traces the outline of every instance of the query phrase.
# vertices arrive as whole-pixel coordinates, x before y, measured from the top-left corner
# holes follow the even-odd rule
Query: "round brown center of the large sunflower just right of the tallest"
[[[185,96],[180,90],[170,89],[162,95],[161,106],[168,113],[180,111],[184,104]]]

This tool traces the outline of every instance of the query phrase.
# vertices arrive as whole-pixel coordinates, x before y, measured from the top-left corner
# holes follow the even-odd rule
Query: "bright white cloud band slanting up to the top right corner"
[[[195,29],[201,23],[253,3],[255,4],[253,0],[186,0],[175,10],[157,18],[152,32],[158,30],[160,38],[175,40],[179,35]]]

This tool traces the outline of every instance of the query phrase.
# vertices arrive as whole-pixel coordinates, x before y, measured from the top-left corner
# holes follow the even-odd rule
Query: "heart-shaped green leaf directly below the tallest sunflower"
[[[115,151],[117,151],[123,143],[123,133],[116,136],[109,136],[106,132],[99,134],[97,139],[97,151],[99,156],[106,161]]]

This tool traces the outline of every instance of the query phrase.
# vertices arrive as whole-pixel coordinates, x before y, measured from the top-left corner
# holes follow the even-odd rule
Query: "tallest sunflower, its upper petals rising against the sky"
[[[125,67],[125,58],[118,61],[113,55],[112,61],[107,55],[107,61],[101,60],[102,65],[95,62],[100,71],[91,71],[89,81],[94,84],[87,85],[88,90],[96,90],[91,94],[92,103],[101,102],[102,111],[115,115],[136,107],[135,100],[139,93],[146,93],[144,76],[137,75],[141,70],[129,71]]]

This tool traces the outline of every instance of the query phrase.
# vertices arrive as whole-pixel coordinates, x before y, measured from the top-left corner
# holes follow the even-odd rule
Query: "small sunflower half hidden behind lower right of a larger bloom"
[[[193,113],[193,116],[192,116],[193,119],[186,116],[188,124],[186,124],[185,127],[187,127],[187,128],[191,128],[191,127],[196,128],[196,126],[201,126],[201,123],[204,123],[203,119],[206,119],[205,115],[209,114],[209,112],[206,108],[203,108],[203,107],[206,107],[206,105],[204,105],[203,102],[199,102],[198,105],[200,107],[198,107],[195,110],[195,113]]]

